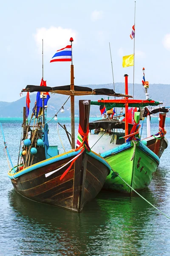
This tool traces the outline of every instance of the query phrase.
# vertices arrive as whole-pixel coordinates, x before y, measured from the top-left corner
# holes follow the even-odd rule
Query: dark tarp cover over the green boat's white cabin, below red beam
[[[133,127],[132,124],[128,125],[129,131]],[[125,130],[125,122],[119,122],[118,119],[101,119],[96,120],[94,122],[89,123],[89,130],[93,130],[96,128],[102,128],[104,130],[112,130],[112,129],[123,129]]]

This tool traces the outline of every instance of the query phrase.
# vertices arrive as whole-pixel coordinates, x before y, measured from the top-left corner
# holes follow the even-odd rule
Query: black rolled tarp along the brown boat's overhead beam
[[[57,86],[57,87],[49,87],[44,86],[42,90],[42,86],[38,85],[27,85],[26,89],[30,90],[30,93],[33,92],[49,92],[49,91],[55,91],[55,90],[70,90],[70,85],[63,85],[63,86]],[[95,91],[96,95],[121,95],[121,93],[115,93],[112,89],[102,88],[102,89],[91,89],[90,87],[84,87],[84,86],[77,86],[74,85],[75,91],[87,91],[87,92],[93,92]]]

